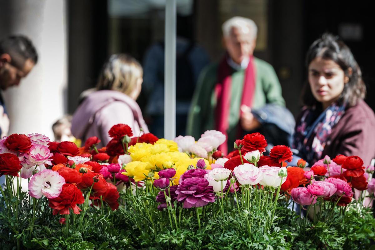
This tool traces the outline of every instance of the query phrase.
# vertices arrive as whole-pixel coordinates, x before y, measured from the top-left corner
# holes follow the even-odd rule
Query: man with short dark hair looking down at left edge
[[[18,86],[38,61],[33,43],[26,36],[9,36],[0,40],[0,88]],[[9,131],[9,118],[0,93],[0,135]]]

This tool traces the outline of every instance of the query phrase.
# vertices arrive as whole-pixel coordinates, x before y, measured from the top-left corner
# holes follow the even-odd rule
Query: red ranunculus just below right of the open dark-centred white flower
[[[48,205],[53,209],[52,214],[70,214],[69,208],[72,208],[73,213],[79,214],[81,209],[77,204],[83,204],[85,199],[83,198],[81,190],[70,183],[63,185],[63,190],[60,195],[54,199],[48,199]]]

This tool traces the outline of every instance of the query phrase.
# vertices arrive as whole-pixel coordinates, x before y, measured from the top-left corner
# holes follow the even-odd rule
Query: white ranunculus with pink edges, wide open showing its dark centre
[[[65,179],[58,172],[45,169],[33,175],[28,183],[28,190],[31,197],[39,199],[44,195],[53,199],[60,195],[64,184]]]

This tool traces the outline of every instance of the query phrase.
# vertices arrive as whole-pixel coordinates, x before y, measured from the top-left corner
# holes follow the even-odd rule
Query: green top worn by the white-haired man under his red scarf
[[[256,86],[252,109],[262,107],[267,103],[285,106],[281,95],[281,86],[273,67],[266,61],[254,57],[256,70]],[[216,97],[214,88],[217,83],[218,63],[207,66],[202,70],[195,88],[189,116],[187,118],[186,134],[196,140],[206,130],[215,129]],[[229,111],[228,148],[233,147],[240,119],[240,105],[243,90],[245,69],[234,70],[231,85],[231,107]]]

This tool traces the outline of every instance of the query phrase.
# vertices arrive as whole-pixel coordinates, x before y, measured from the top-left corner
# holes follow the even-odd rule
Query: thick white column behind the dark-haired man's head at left
[[[32,40],[39,56],[21,84],[3,92],[10,118],[9,134],[40,133],[53,140],[52,124],[66,110],[66,1],[2,1],[1,15],[0,38],[24,34]]]

